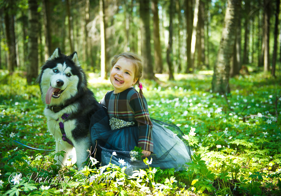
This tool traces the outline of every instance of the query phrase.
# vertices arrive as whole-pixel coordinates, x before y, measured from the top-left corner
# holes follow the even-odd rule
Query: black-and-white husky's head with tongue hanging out
[[[37,81],[42,101],[48,105],[64,105],[87,91],[87,79],[78,62],[77,53],[66,56],[59,48],[41,67]]]

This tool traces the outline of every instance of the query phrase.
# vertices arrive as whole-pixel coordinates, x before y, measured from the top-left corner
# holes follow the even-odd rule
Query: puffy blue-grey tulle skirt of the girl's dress
[[[152,158],[149,166],[161,169],[175,168],[176,171],[186,169],[186,163],[192,160],[192,150],[188,141],[183,138],[182,131],[169,121],[150,119],[153,123],[153,153],[148,157],[149,161]],[[132,161],[130,157],[130,151],[138,146],[138,126],[111,130],[106,109],[101,109],[91,117],[90,135],[95,157],[101,162],[101,166],[109,162],[120,165],[118,161],[123,159],[126,162],[123,166],[127,167],[128,175],[134,170],[148,168],[143,161]],[[112,156],[113,152],[116,152],[115,156]]]

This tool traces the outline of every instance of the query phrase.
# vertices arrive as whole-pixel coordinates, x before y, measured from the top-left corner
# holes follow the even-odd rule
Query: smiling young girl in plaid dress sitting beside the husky
[[[126,173],[147,168],[130,157],[134,147],[141,147],[143,158],[152,158],[152,167],[184,170],[191,162],[191,151],[182,131],[173,123],[149,117],[148,106],[139,82],[142,62],[135,53],[115,55],[111,62],[110,82],[101,109],[91,117],[92,147],[101,165],[109,162],[127,166]],[[140,92],[133,87],[139,84]],[[115,153],[116,155],[115,155]],[[114,154],[114,156],[112,156]],[[123,159],[124,161],[122,161]]]

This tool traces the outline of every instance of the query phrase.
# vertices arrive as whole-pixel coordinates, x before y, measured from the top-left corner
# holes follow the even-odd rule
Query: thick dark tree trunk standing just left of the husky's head
[[[26,79],[32,84],[38,76],[38,12],[37,1],[28,0],[29,28],[28,28],[28,60]]]

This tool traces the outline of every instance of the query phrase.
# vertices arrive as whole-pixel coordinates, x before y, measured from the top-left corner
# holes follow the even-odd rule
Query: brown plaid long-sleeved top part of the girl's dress
[[[100,103],[107,108],[110,119],[114,117],[134,122],[134,125],[139,127],[138,147],[153,152],[153,125],[149,118],[146,99],[142,94],[135,88],[128,88],[117,94],[108,91]]]

